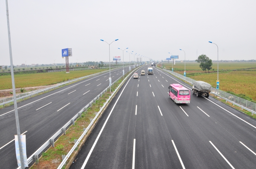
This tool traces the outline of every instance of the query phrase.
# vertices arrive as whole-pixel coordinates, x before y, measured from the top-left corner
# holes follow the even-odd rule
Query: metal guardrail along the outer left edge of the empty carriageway
[[[126,66],[127,67],[127,66]],[[114,69],[119,69],[120,67],[117,67],[117,68],[114,68]],[[114,69],[111,69],[111,70],[114,70]],[[99,73],[94,73],[94,74],[92,74],[92,75],[87,75],[87,76],[83,76],[83,77],[80,77],[80,78],[76,78],[76,79],[73,79],[73,80],[71,80],[71,81],[65,81],[65,82],[61,82],[61,83],[59,83],[58,85],[56,85],[56,86],[53,86],[53,87],[49,87],[49,88],[45,88],[45,89],[43,89],[43,90],[38,90],[38,91],[36,91],[36,92],[34,92],[34,93],[30,93],[30,92],[28,92],[28,93],[23,93],[23,94],[19,94],[19,95],[17,95],[16,96],[16,98],[17,98],[17,100],[20,100],[20,99],[24,99],[24,98],[26,98],[26,97],[31,97],[31,96],[33,96],[34,94],[37,94],[38,95],[38,93],[44,93],[44,91],[49,91],[49,90],[51,90],[51,89],[54,89],[54,88],[57,88],[57,87],[59,87],[59,86],[62,86],[62,85],[66,85],[66,84],[69,84],[69,83],[71,83],[71,82],[76,82],[76,81],[78,81],[78,80],[81,80],[81,79],[85,79],[85,78],[89,78],[89,77],[91,77],[91,76],[95,76],[95,75],[99,75],[99,74],[101,74],[101,73],[106,73],[106,72],[108,72],[109,70],[105,70],[105,71],[103,71],[103,72],[99,72]],[[7,104],[7,103],[11,103],[11,102],[13,102],[14,100],[13,100],[13,97],[9,97],[9,98],[6,98],[6,99],[2,99],[2,100],[0,100],[0,102],[2,102],[2,103],[0,103],[0,106],[1,105],[5,105],[5,104]]]

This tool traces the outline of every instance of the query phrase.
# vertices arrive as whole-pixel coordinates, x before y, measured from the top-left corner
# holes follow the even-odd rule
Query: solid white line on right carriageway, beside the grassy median
[[[131,78],[132,78],[132,77],[133,77],[133,76],[131,76]],[[130,79],[131,79],[131,78],[130,78]],[[129,79],[129,81],[130,81],[130,79]],[[129,81],[128,81],[128,82],[129,82]],[[128,84],[128,82],[126,83],[126,85]],[[125,85],[125,87],[126,87],[126,85]],[[125,87],[123,88],[123,90],[125,90]],[[122,95],[123,90],[122,90],[121,94],[119,95],[119,97],[117,98],[116,103],[118,102],[120,96]],[[98,139],[99,139],[99,137],[101,136],[101,133],[102,133],[102,131],[104,130],[104,127],[106,126],[106,124],[107,124],[107,122],[108,122],[108,119],[110,118],[110,115],[112,114],[112,112],[113,112],[113,110],[114,110],[114,108],[115,108],[115,106],[116,106],[116,103],[114,104],[114,106],[113,106],[113,108],[111,109],[111,111],[110,111],[110,113],[109,113],[109,115],[108,115],[108,117],[107,117],[105,123],[103,124],[103,126],[102,126],[102,128],[101,128],[101,131],[99,132],[99,135],[97,136],[96,140],[94,141],[94,144],[93,144],[93,146],[91,147],[91,150],[90,150],[90,152],[88,153],[88,155],[87,155],[87,157],[86,157],[86,159],[85,159],[85,161],[84,161],[84,163],[83,163],[81,169],[84,169],[86,163],[88,162],[88,160],[89,160],[89,158],[90,158],[90,156],[91,156],[91,153],[93,152],[93,149],[94,149],[95,145],[97,144]]]

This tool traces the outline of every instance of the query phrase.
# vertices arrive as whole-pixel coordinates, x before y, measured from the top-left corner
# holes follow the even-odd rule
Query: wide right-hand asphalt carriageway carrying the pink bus
[[[128,78],[71,169],[256,168],[255,119],[212,97],[176,104],[168,86],[192,87],[153,71]]]

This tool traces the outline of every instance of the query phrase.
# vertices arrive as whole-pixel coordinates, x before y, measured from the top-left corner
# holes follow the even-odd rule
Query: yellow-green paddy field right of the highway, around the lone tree
[[[172,68],[172,63],[163,63],[166,69]],[[184,63],[173,65],[174,72],[184,73]],[[199,63],[186,62],[186,76],[195,80],[205,81],[216,87],[217,63],[213,62],[209,73],[199,67]],[[219,89],[245,94],[256,100],[256,62],[219,62]]]

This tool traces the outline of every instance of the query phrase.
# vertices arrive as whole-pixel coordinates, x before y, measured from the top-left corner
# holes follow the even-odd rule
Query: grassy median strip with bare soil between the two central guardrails
[[[125,76],[123,76],[119,81],[115,82],[111,86],[112,92],[115,90],[118,90],[117,87],[123,81],[123,79],[126,76],[128,76],[128,74],[129,74],[129,72],[126,73]],[[106,100],[109,98],[109,96],[111,96],[112,92],[110,93],[110,91],[108,90],[106,93],[104,93],[102,95],[102,97],[100,97],[98,100],[96,100],[96,103],[93,103],[92,106],[87,109],[87,111],[82,112],[82,118],[79,117],[75,121],[75,125],[70,126],[69,129],[66,130],[66,135],[61,135],[55,141],[55,147],[50,147],[46,152],[42,153],[41,157],[39,158],[37,163],[34,163],[34,165],[32,165],[30,167],[30,169],[46,169],[46,168],[47,169],[56,169],[56,168],[58,168],[59,164],[62,161],[61,155],[67,154],[70,151],[70,149],[75,144],[74,140],[78,139],[82,135],[82,133],[84,132],[83,129],[87,128],[87,126],[90,124],[90,119],[93,119],[95,117],[95,115],[96,115],[95,113],[99,112],[100,107],[103,106],[103,103],[106,102]],[[103,112],[101,112],[101,114]],[[99,119],[99,117],[98,117],[98,119]],[[94,127],[94,125],[92,127]],[[92,129],[92,127],[91,127],[91,129]],[[88,133],[90,133],[90,131],[87,132],[87,134],[84,136],[84,139],[86,137],[88,137]],[[80,144],[81,144],[81,142],[80,142]],[[81,147],[80,144],[78,145],[78,147]],[[72,155],[74,156],[74,154],[77,154],[78,151],[79,150],[76,148],[76,150],[72,153]],[[70,156],[70,158],[68,159],[66,164],[69,163],[70,159],[72,159],[72,156]],[[65,167],[66,166],[64,166],[63,169]]]

